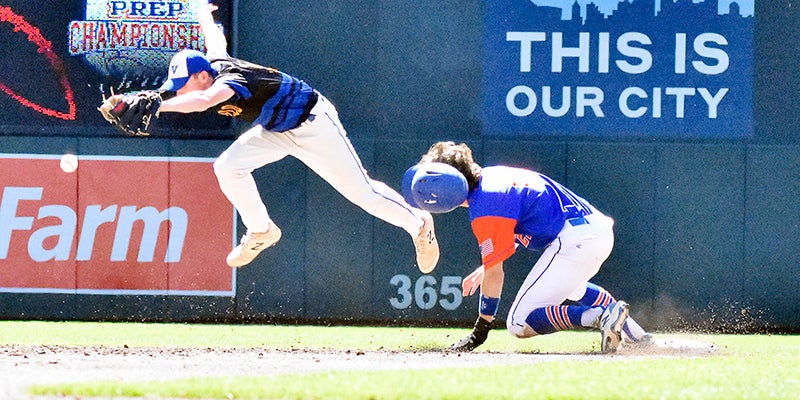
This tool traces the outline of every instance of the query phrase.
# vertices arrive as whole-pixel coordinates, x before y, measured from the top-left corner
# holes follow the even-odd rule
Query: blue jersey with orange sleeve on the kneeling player
[[[472,231],[486,266],[509,258],[516,244],[531,250],[547,247],[565,221],[594,210],[586,200],[543,174],[505,166],[483,168],[467,201]]]

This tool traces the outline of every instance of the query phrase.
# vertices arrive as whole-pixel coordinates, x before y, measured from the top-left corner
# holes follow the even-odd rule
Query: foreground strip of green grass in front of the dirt
[[[44,393],[262,399],[797,398],[796,374],[783,370],[754,376],[747,369],[750,361],[559,361],[523,367],[287,374],[168,384],[107,382],[54,387],[58,390]]]

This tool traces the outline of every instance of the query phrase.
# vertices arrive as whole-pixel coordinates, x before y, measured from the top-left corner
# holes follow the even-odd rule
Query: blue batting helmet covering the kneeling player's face
[[[445,163],[424,163],[403,174],[403,198],[416,208],[435,214],[453,211],[469,193],[467,178]]]

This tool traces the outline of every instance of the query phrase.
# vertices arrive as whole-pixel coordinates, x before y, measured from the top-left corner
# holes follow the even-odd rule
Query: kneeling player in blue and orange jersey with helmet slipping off
[[[464,278],[462,290],[469,296],[480,288],[479,316],[452,350],[471,351],[488,337],[503,291],[503,262],[518,246],[543,252],[511,305],[512,335],[595,328],[603,353],[623,340],[652,343],[629,317],[627,303],[589,282],[611,253],[614,221],[560,183],[527,169],[482,168],[467,145],[438,142],[406,171],[402,191],[410,204],[432,213],[469,208],[483,265]]]

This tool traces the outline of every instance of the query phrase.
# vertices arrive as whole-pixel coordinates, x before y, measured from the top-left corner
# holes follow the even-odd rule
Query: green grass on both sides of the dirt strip
[[[7,344],[259,347],[424,351],[468,332],[443,328],[0,322]],[[702,357],[593,356],[529,365],[418,371],[338,371],[170,382],[43,385],[38,395],[243,399],[796,399],[800,337],[679,335],[714,343]],[[527,340],[495,330],[479,350],[597,354],[596,333]],[[501,357],[501,356],[500,356]],[[535,356],[533,356],[535,357]]]

